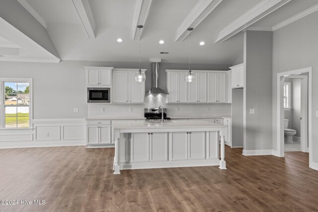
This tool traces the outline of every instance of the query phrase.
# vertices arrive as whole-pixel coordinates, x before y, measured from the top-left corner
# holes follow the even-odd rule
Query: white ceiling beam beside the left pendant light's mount
[[[152,1],[153,0],[136,0],[135,8],[134,8],[133,23],[132,23],[133,40],[135,40],[135,37],[136,37],[137,25],[145,26]],[[143,33],[143,29],[141,29],[140,31],[140,34],[142,33]]]

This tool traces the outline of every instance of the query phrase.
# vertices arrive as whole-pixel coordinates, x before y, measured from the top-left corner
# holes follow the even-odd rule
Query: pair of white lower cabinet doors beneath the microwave
[[[86,144],[110,144],[111,126],[87,126]]]

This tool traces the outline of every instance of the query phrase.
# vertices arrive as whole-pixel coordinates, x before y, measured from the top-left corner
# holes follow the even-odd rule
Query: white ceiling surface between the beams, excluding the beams
[[[89,38],[72,0],[25,0],[45,21],[46,29],[62,60],[139,61],[139,31],[132,37],[138,0],[88,0],[95,22]],[[222,0],[191,32],[191,63],[233,64],[243,53],[243,34],[215,43],[219,32],[258,3],[266,0]],[[177,28],[200,0],[152,0],[140,44],[142,62],[161,58],[166,63],[188,63],[189,36],[175,42]],[[317,4],[317,0],[291,0],[258,20],[254,28],[274,25]],[[118,43],[117,38],[123,42]],[[160,45],[159,40],[164,40]],[[200,46],[199,42],[206,44]],[[0,45],[1,45],[0,39]],[[159,52],[169,52],[160,55]]]

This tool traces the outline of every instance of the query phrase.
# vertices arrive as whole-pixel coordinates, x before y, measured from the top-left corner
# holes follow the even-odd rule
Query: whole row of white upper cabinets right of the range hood
[[[227,71],[193,70],[196,79],[185,82],[187,70],[165,70],[167,72],[168,103],[226,103]]]

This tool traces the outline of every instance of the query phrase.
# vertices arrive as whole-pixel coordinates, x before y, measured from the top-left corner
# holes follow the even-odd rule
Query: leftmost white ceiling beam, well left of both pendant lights
[[[72,0],[88,38],[95,38],[95,20],[88,0]]]

